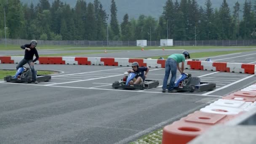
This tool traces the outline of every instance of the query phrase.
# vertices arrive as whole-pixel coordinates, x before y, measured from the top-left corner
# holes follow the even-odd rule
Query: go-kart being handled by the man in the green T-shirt
[[[167,85],[169,87],[169,84]],[[191,77],[191,74],[183,73],[176,81],[174,89],[176,91],[212,91],[216,88],[215,83],[200,82],[200,77]]]

